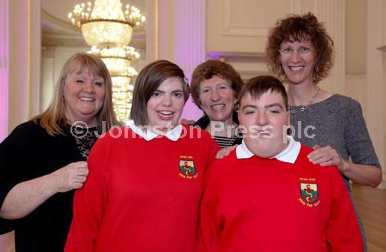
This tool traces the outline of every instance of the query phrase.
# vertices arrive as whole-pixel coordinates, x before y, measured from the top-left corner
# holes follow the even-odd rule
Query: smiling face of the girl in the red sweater
[[[147,101],[147,125],[154,131],[167,131],[178,125],[185,99],[181,78],[164,80]]]

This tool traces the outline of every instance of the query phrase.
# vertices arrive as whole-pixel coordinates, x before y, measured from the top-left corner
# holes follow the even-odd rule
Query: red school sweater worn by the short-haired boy
[[[215,160],[201,204],[198,251],[362,252],[352,203],[336,167],[235,151]]]

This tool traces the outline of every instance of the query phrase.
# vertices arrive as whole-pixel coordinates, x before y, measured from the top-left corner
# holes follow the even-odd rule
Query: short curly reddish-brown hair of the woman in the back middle
[[[190,92],[193,101],[199,108],[201,108],[200,84],[205,79],[210,79],[215,75],[230,81],[235,98],[239,95],[240,89],[243,85],[240,74],[237,73],[237,71],[229,63],[209,59],[194,69],[190,83]]]

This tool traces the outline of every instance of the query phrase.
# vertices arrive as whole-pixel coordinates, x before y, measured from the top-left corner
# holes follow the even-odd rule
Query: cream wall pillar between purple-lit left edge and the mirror
[[[41,65],[40,1],[9,1],[8,133],[39,113]]]

